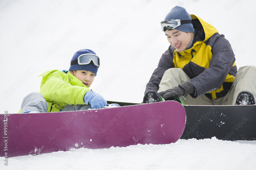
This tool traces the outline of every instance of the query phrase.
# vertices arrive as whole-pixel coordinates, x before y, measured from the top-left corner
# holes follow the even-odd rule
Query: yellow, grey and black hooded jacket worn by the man
[[[178,52],[172,45],[162,55],[154,70],[146,91],[158,90],[164,72],[169,68],[181,68],[190,77],[196,90],[190,94],[196,98],[205,94],[217,99],[230,90],[237,73],[231,45],[224,35],[201,18],[190,15],[195,29],[193,47]]]

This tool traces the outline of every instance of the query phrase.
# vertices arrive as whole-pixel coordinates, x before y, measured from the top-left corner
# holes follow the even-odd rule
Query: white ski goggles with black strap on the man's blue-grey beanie
[[[161,29],[162,31],[172,30],[180,26],[180,24],[192,24],[192,20],[170,19],[166,21],[161,21]]]

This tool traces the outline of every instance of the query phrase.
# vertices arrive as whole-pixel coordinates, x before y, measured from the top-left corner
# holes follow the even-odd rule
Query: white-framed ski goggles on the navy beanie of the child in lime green
[[[70,66],[90,64],[91,61],[95,66],[100,67],[100,58],[95,54],[82,54],[76,60],[71,61]]]

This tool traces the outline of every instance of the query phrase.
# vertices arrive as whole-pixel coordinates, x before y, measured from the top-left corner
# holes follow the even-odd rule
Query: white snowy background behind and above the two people
[[[39,92],[41,73],[68,70],[85,48],[101,59],[94,91],[106,100],[141,102],[169,46],[160,21],[176,5],[225,35],[238,68],[255,66],[255,1],[1,0],[0,113],[17,113],[28,93]]]

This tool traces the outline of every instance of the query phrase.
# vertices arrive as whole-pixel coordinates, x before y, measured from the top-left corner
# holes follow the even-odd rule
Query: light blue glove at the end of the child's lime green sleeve
[[[93,109],[99,109],[101,107],[107,106],[107,101],[94,91],[88,91],[84,95],[84,104],[90,104]]]

